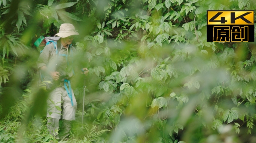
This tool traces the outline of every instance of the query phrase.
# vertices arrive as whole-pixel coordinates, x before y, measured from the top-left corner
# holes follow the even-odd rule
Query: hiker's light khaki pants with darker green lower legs
[[[75,120],[76,99],[72,90],[73,106],[67,91],[63,87],[55,88],[49,95],[47,100],[47,128],[50,133],[57,137],[55,130],[59,129],[59,120],[63,119],[63,126],[60,128],[60,139],[64,139],[69,135],[71,130],[71,121]]]

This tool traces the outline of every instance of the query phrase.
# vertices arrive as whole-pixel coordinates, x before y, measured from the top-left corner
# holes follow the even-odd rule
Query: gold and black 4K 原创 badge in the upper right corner
[[[254,42],[254,10],[207,10],[207,42]]]

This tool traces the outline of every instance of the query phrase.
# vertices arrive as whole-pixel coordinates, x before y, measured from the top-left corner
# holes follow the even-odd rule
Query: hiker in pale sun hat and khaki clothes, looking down
[[[44,74],[43,84],[51,90],[47,100],[47,128],[57,137],[59,120],[63,120],[59,137],[68,137],[71,130],[71,121],[75,120],[76,99],[71,89],[70,78],[74,75],[73,54],[76,49],[71,45],[74,35],[79,35],[72,24],[64,23],[55,36],[60,39],[57,42],[46,44],[37,60],[37,67]],[[87,68],[81,69],[83,74],[88,74]]]

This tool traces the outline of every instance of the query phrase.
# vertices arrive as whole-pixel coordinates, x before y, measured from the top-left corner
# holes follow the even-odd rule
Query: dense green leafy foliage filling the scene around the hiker
[[[255,143],[255,43],[206,41],[206,10],[255,8],[253,0],[0,0],[0,142],[58,142],[46,129],[33,43],[72,23],[74,64],[89,75],[72,79],[78,108],[67,142]]]

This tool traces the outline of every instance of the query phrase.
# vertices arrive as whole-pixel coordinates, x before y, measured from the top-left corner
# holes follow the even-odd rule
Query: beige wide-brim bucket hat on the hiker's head
[[[73,24],[70,23],[63,23],[60,26],[59,33],[55,34],[54,36],[60,36],[61,38],[66,38],[71,35],[79,35],[74,28]]]

